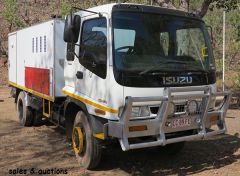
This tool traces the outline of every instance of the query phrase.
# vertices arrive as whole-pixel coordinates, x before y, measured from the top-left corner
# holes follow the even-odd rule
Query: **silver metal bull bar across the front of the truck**
[[[191,92],[191,93],[189,93]],[[218,109],[210,109],[211,100],[217,97],[224,97],[221,105]],[[176,100],[194,100],[202,99],[202,110],[199,114],[200,124],[197,129],[197,133],[192,135],[186,135],[181,137],[174,137],[166,139],[166,128],[165,124],[169,117],[169,104]],[[205,87],[183,87],[183,88],[165,88],[164,96],[158,97],[127,97],[126,103],[123,108],[123,112],[120,116],[119,121],[109,121],[108,124],[108,135],[119,139],[122,150],[127,151],[131,149],[153,147],[153,146],[164,146],[166,144],[177,143],[182,141],[191,141],[205,139],[218,134],[224,134],[226,132],[225,116],[229,107],[231,99],[231,93],[229,91],[213,93],[210,86]],[[130,120],[132,107],[135,105],[148,105],[153,102],[160,102],[157,116],[154,119],[145,120]],[[209,131],[206,128],[207,117],[211,115],[217,115],[219,117],[218,129]],[[144,131],[130,131],[131,126],[145,125],[146,130]],[[129,138],[154,136],[156,140],[131,143]]]

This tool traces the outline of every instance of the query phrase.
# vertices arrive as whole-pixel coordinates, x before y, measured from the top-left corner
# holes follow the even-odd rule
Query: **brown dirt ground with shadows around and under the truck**
[[[105,149],[100,167],[79,167],[63,131],[54,126],[23,128],[16,118],[9,88],[0,88],[0,176],[17,169],[63,169],[67,175],[240,175],[240,110],[227,115],[228,133],[188,142],[181,153],[167,156],[159,148],[130,152]],[[20,174],[19,174],[20,175]],[[23,174],[22,174],[23,175]],[[45,174],[46,175],[46,174]]]

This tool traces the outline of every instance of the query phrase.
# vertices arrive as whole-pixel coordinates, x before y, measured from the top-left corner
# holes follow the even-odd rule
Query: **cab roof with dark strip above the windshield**
[[[159,14],[166,14],[166,15],[174,15],[186,18],[193,18],[196,20],[203,21],[198,15],[193,13],[184,12],[177,9],[168,9],[159,6],[151,6],[151,5],[143,5],[143,4],[134,4],[134,3],[111,3],[100,5],[96,7],[89,8],[87,10],[101,12],[101,13],[108,13],[111,14],[113,10],[116,11],[134,11],[134,12],[145,12],[145,13],[159,13]],[[81,15],[90,15],[89,12],[80,11]]]

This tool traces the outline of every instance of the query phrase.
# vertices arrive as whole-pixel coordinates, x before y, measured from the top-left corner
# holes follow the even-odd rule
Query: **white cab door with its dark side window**
[[[85,20],[80,38],[80,59],[77,71],[78,92],[93,100],[106,100],[107,91],[107,20],[104,17]]]

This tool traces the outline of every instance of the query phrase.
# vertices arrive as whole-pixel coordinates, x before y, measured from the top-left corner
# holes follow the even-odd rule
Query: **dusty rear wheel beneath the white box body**
[[[17,116],[22,126],[32,126],[33,124],[33,111],[30,107],[26,106],[25,93],[20,92],[17,99]]]

